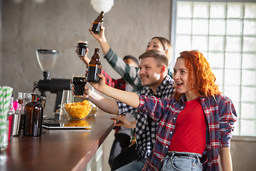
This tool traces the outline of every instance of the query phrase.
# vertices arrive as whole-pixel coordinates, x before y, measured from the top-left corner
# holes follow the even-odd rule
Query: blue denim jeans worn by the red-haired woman
[[[196,155],[196,158],[186,156],[176,157],[174,156],[175,153]],[[192,152],[173,152],[171,156],[166,155],[166,157],[164,158],[163,167],[161,168],[160,171],[203,170],[203,165],[200,162],[199,157],[202,157],[202,155]]]

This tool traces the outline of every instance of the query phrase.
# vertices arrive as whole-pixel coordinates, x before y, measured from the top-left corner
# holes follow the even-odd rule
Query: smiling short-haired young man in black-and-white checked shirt
[[[169,98],[174,93],[174,81],[168,76],[169,62],[165,53],[158,50],[146,51],[139,56],[139,59],[141,60],[139,63],[139,77],[142,80],[142,86],[144,86],[139,94],[154,95],[157,98]],[[135,108],[119,101],[103,98],[97,93],[92,92],[87,86],[85,86],[84,98],[87,98],[107,113],[122,115],[137,111]],[[146,162],[146,157],[153,150],[158,123],[147,117],[147,115],[138,115],[137,122],[134,122],[135,124],[136,145],[129,147],[124,153],[121,152],[121,156],[118,155],[115,158],[115,160],[118,158],[120,163],[117,166],[113,163],[112,170],[116,170],[123,165],[126,165],[123,168],[124,170],[134,170],[134,167],[142,169]],[[132,162],[134,160],[136,161]],[[127,165],[129,162],[132,163]]]

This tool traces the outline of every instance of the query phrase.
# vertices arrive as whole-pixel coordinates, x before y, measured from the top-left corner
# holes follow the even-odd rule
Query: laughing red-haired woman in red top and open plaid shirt
[[[218,90],[202,53],[180,53],[174,66],[173,98],[117,93],[103,81],[92,86],[159,122],[144,170],[219,170],[218,155],[223,170],[232,170],[230,138],[237,114],[230,98]]]

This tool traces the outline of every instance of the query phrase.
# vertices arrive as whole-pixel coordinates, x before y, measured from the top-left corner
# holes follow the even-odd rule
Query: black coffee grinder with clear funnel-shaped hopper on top
[[[56,93],[55,108],[54,111],[60,108],[61,98],[63,90],[70,90],[70,79],[50,79],[50,71],[55,66],[58,58],[58,51],[48,49],[38,49],[36,51],[36,58],[38,59],[39,66],[43,71],[43,80],[39,80],[33,83],[33,91],[38,88],[41,92],[39,100],[46,105],[46,91],[50,93]]]

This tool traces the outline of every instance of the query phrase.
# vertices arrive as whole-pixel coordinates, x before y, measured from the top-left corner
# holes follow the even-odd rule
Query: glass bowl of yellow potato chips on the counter
[[[84,119],[92,110],[92,105],[88,100],[83,100],[82,102],[65,103],[63,108],[68,118]]]

